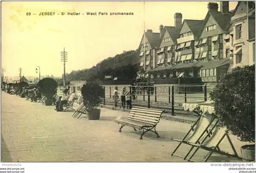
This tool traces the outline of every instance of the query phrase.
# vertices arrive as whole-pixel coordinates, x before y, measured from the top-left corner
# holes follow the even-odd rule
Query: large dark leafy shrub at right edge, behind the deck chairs
[[[210,97],[222,124],[241,141],[255,142],[255,65],[222,75]]]

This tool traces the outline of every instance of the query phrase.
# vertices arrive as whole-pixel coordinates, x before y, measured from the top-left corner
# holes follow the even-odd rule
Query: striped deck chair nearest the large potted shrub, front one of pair
[[[191,160],[191,159],[197,153],[199,148],[209,151],[209,153],[206,156],[204,162],[207,162],[207,160],[210,158],[210,156],[213,153],[218,153],[220,155],[225,155],[225,156],[236,158],[238,160],[242,160],[242,158],[240,158],[238,156],[238,154],[236,152],[236,149],[234,148],[234,145],[232,144],[232,141],[231,141],[230,137],[228,136],[228,131],[227,131],[226,127],[217,126],[216,128],[212,128],[210,131],[213,131],[211,137],[210,138],[205,137],[203,139],[203,141],[201,142],[201,144],[189,143],[189,145],[192,145],[192,146],[197,147],[197,148],[196,148],[195,152],[188,158],[188,161],[195,162],[194,160]],[[223,141],[223,139],[225,137],[227,137],[227,139],[229,141],[229,144],[230,144],[234,154],[230,154],[230,153],[223,152],[223,151],[220,150],[219,145],[221,144],[221,142]]]

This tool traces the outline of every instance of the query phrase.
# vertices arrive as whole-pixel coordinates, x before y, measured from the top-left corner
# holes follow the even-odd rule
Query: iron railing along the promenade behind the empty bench
[[[174,115],[177,108],[181,109],[182,103],[209,101],[209,93],[215,85],[145,85],[145,86],[102,86],[104,89],[103,104],[113,104],[114,90],[120,91],[123,87],[132,93],[132,104],[148,108],[158,107],[168,109]],[[63,88],[63,87],[58,87]],[[68,88],[68,87],[65,87]],[[70,87],[70,93],[78,91],[81,87]],[[120,96],[119,96],[120,97]],[[119,103],[121,104],[121,103]]]

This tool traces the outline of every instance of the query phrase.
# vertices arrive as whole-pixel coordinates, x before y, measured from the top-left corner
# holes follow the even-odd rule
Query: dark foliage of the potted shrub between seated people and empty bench
[[[96,109],[104,97],[104,89],[95,82],[83,84],[81,89],[83,104],[88,106],[89,110]]]

